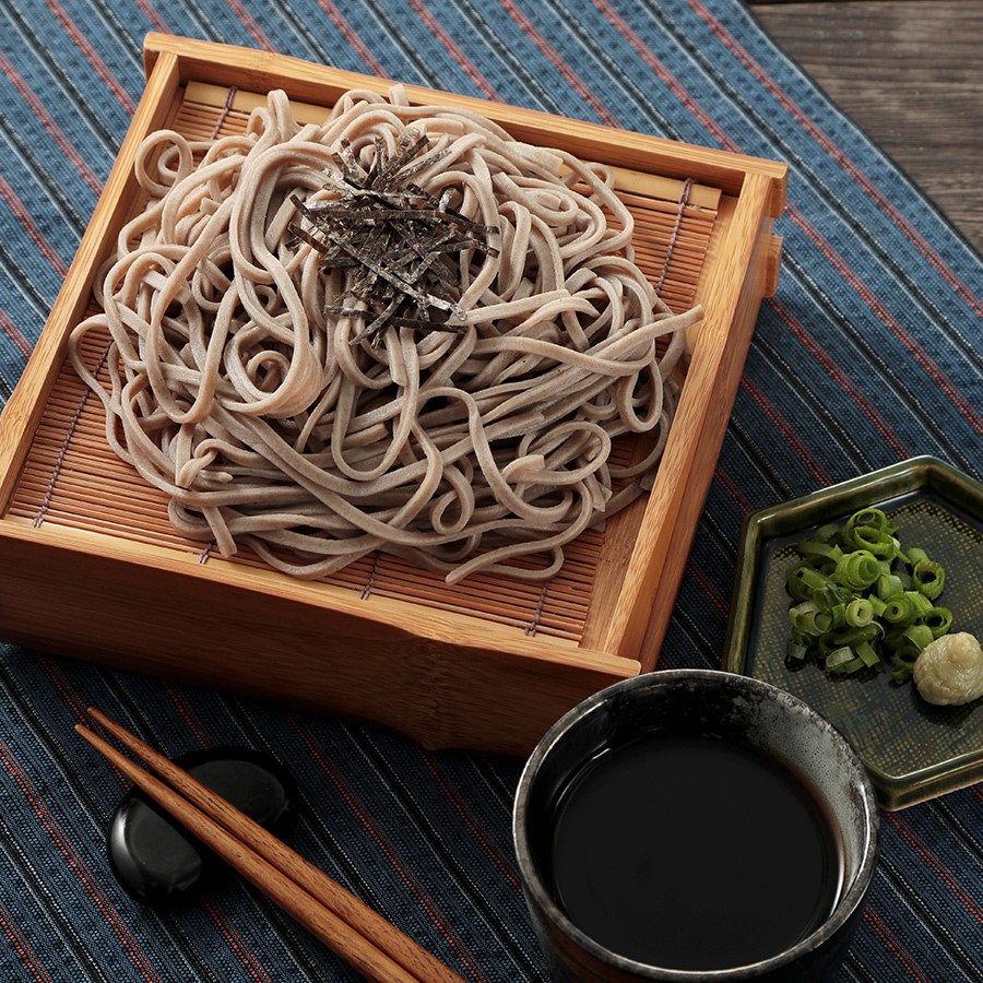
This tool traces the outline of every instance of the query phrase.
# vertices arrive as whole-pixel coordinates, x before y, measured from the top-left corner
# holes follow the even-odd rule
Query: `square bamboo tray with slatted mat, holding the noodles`
[[[699,303],[704,317],[652,492],[571,544],[550,581],[478,575],[449,587],[389,555],[296,581],[175,533],[163,494],[106,445],[67,342],[142,205],[133,161],[149,133],[241,131],[273,88],[298,120],[319,121],[342,93],[391,83],[164,35],[147,36],[144,60],[144,96],[0,418],[0,636],[372,721],[430,747],[509,754],[528,753],[589,694],[651,670],[758,309],[775,289],[784,165],[406,86],[411,102],[476,111],[519,140],[611,166],[636,216],[639,265],[674,310]]]

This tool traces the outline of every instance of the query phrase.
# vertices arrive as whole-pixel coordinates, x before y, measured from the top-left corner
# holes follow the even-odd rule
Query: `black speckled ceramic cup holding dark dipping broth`
[[[709,766],[709,770],[701,770],[704,758],[700,755],[708,747],[713,755],[706,760],[715,761],[713,767],[723,771],[714,772]],[[677,748],[683,748],[678,754],[689,757],[686,766],[676,767],[678,773],[673,774],[673,755]],[[667,754],[668,749],[672,754]],[[651,758],[647,757],[650,753]],[[720,754],[725,760],[716,759]],[[731,761],[729,756],[736,757]],[[656,770],[654,762],[660,760],[662,770]],[[739,768],[747,765],[753,770],[760,766],[767,772],[767,781],[777,782],[774,802],[770,786],[762,793],[754,782],[735,778],[737,773],[744,774]],[[647,772],[650,767],[651,774]],[[757,771],[747,774],[755,778]],[[616,775],[628,777],[626,780],[635,791],[627,797],[624,789],[620,793],[608,791],[616,790],[620,780]],[[701,832],[695,833],[695,817],[680,805],[688,793],[680,790],[696,793],[701,783],[710,782],[715,783],[718,802],[713,815],[698,817]],[[727,785],[729,782],[732,784]],[[725,785],[729,791],[722,793]],[[750,792],[751,787],[757,791]],[[591,795],[595,801],[591,801]],[[802,902],[796,898],[800,858],[793,856],[790,862],[789,854],[780,852],[772,856],[768,837],[759,837],[762,828],[778,815],[779,798],[783,795],[798,803],[793,807],[800,809],[803,821],[809,822],[808,817],[815,816],[816,828],[821,826],[829,834],[828,840],[821,840],[817,833],[820,839],[816,840],[832,844],[829,856],[821,857],[827,871],[822,876],[827,877],[830,869],[836,875],[826,898],[828,903],[824,902],[826,908],[816,907],[802,929],[795,929],[798,935],[793,932],[777,944],[777,949],[751,959],[737,957],[733,964],[712,962],[708,954],[718,941],[725,954],[731,951],[726,946],[732,944],[737,945],[734,951],[741,951],[744,935],[753,936],[762,925],[780,921],[778,915],[784,916],[786,908],[793,911]],[[694,801],[703,803],[713,798]],[[578,813],[581,802],[585,812]],[[595,814],[593,819],[590,809]],[[677,815],[675,810],[680,812]],[[577,830],[578,822],[595,820],[601,822],[595,838],[591,839],[592,832],[584,827],[579,834],[588,839],[582,839],[576,848],[564,846],[565,830]],[[631,828],[632,822],[646,828]],[[651,839],[647,839],[648,827],[652,830]],[[578,983],[829,980],[843,961],[862,916],[877,863],[879,832],[874,787],[863,763],[839,731],[787,692],[746,676],[710,670],[643,674],[609,686],[575,707],[550,727],[529,758],[517,790],[513,814],[516,852],[540,945],[553,978]],[[755,853],[762,845],[751,842],[756,837],[763,839],[763,853]],[[795,840],[790,839],[794,853]],[[803,838],[803,842],[807,839]],[[576,839],[569,842],[578,843]],[[701,885],[697,889],[685,883],[690,869],[695,878],[707,875],[700,868],[711,855],[724,862],[737,858],[749,865],[742,868],[738,864],[734,868],[746,871],[738,877],[731,875],[726,863],[721,867],[713,861],[718,876],[721,869],[726,869],[723,876],[730,878],[716,885],[721,889],[719,898],[713,896],[713,887]],[[606,903],[614,911],[612,920],[616,929],[624,922],[630,929],[628,935],[640,933],[641,941],[652,943],[653,951],[662,951],[663,943],[668,951],[674,946],[677,950],[686,949],[682,939],[690,938],[691,951],[685,958],[673,956],[665,964],[659,964],[637,951],[624,955],[638,938],[621,948],[620,941],[611,940],[620,938],[619,931],[602,943],[592,936],[603,935],[608,926],[601,931],[594,922],[590,931],[584,929],[587,915],[575,911],[580,903],[573,899],[575,891],[580,890],[589,904],[593,903],[596,899],[592,893],[612,890],[611,884],[606,884],[608,868],[625,863],[637,867],[628,872],[633,891],[630,900],[627,896],[624,901],[617,897],[602,898],[599,904],[603,908]],[[794,873],[789,874],[790,871]],[[802,884],[805,881],[803,874]],[[639,890],[643,893],[639,895]],[[668,897],[660,898],[660,893]],[[763,909],[762,899],[772,902],[771,893],[787,899],[787,904],[782,901],[779,909],[772,905],[770,912],[762,911],[761,917],[757,917],[756,905]],[[680,928],[674,919],[684,917],[680,911],[686,904],[695,905],[696,923]],[[812,904],[807,898],[806,908]],[[635,923],[629,919],[635,919]],[[714,933],[731,924],[748,927],[736,933],[736,941],[714,941]],[[660,938],[659,933],[664,937]],[[701,964],[704,958],[706,966]],[[720,958],[727,956],[716,952],[716,959]]]

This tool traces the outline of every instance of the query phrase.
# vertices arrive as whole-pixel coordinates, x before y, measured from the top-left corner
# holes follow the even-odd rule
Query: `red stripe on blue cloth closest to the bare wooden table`
[[[904,236],[915,246],[919,252],[941,274],[945,281],[978,313],[983,313],[983,301],[959,279],[956,272],[941,259],[919,230],[898,211],[897,206],[880,193],[880,189],[863,170],[843,153],[803,109],[795,103],[758,64],[741,43],[724,27],[700,0],[689,0],[689,5],[704,21],[720,40],[734,52],[734,56],[751,72],[765,87],[779,100],[783,108],[803,127],[803,129],[863,188],[875,204],[885,212]]]

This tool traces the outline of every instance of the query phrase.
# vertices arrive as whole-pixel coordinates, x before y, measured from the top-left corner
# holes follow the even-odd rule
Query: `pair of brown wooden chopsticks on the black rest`
[[[88,714],[159,778],[76,724],[93,747],[363,975],[400,983],[460,983],[439,959],[222,796],[99,710],[91,707]]]

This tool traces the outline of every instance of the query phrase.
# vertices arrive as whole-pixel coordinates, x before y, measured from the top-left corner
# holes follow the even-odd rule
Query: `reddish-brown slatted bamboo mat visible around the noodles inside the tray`
[[[186,94],[171,126],[191,140],[241,133],[248,109],[240,108],[240,94],[230,108],[226,107],[226,92],[194,85],[194,98]],[[198,100],[203,93],[214,95],[215,102]],[[664,187],[666,193],[678,196],[678,181],[666,181]],[[712,188],[696,187],[686,203],[680,203],[677,197],[651,197],[633,190],[619,193],[636,222],[636,262],[651,282],[662,281],[661,294],[671,308],[687,309],[694,303],[703,269],[719,194]],[[83,351],[92,368],[103,362],[107,343],[108,337],[98,332],[86,339]],[[107,378],[105,365],[99,372]],[[637,441],[619,441],[614,460],[625,463],[638,450]],[[167,519],[166,494],[145,483],[110,450],[102,403],[68,364],[62,366],[45,406],[9,514],[35,525],[88,531],[197,554],[201,562],[264,565],[248,547],[220,560],[210,544],[174,530]],[[448,585],[440,573],[378,554],[363,557],[323,580],[357,593],[369,604],[372,597],[423,602],[431,608],[466,614],[528,635],[576,643],[583,635],[603,547],[603,529],[587,531],[566,547],[562,569],[545,584],[476,575]]]

